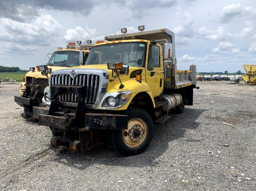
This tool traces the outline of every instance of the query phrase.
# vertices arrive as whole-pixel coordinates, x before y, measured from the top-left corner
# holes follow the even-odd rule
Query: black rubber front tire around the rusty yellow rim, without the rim
[[[128,121],[135,119],[135,118],[140,118],[141,120],[143,120],[146,123],[146,126],[147,126],[146,138],[141,145],[139,145],[137,147],[130,147],[124,142],[124,140],[122,138],[123,130],[114,130],[113,134],[112,134],[113,146],[120,153],[122,153],[126,156],[140,154],[148,148],[148,146],[151,143],[151,140],[153,138],[154,124],[153,124],[152,118],[146,111],[144,111],[141,108],[130,108],[125,113],[125,115],[128,115]]]

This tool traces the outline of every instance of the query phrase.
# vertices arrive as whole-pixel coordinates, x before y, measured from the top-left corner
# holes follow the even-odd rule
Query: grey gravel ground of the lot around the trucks
[[[194,106],[154,128],[140,155],[102,145],[50,146],[48,127],[26,121],[19,83],[0,84],[1,191],[255,191],[256,86],[197,82]]]

